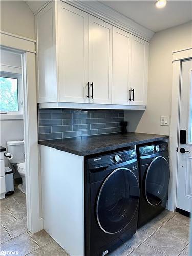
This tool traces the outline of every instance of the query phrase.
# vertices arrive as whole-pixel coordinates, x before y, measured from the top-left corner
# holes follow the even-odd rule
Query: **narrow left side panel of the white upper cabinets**
[[[35,16],[38,103],[57,100],[54,1]]]

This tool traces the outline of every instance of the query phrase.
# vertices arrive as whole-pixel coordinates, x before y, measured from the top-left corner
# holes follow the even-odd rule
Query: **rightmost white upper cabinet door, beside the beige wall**
[[[147,83],[148,42],[133,36],[131,64],[131,88],[134,89],[133,105],[147,105]]]

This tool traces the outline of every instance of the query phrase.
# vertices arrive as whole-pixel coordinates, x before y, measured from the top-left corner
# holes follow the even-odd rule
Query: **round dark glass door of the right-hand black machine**
[[[149,204],[162,202],[168,191],[170,170],[164,157],[156,157],[150,163],[145,179],[145,196]]]

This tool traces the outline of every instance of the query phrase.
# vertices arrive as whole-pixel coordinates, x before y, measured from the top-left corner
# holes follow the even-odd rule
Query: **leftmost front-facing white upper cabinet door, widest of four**
[[[88,14],[66,3],[58,6],[59,101],[88,102]]]

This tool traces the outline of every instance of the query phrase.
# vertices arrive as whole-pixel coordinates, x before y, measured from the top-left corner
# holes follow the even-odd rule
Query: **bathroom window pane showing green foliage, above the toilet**
[[[0,111],[18,111],[18,79],[0,77]]]

